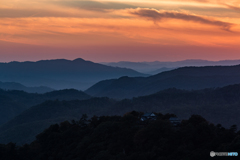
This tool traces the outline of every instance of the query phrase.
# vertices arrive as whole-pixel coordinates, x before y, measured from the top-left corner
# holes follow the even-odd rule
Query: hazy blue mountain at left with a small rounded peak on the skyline
[[[73,61],[57,59],[0,63],[0,81],[18,82],[33,87],[84,90],[100,80],[121,76],[145,75],[131,69],[105,66],[80,58]]]

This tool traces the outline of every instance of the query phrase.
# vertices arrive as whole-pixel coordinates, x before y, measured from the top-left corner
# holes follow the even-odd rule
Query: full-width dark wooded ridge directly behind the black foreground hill
[[[167,89],[133,99],[116,101],[109,98],[91,98],[72,101],[46,101],[33,106],[0,127],[0,143],[24,144],[49,125],[64,120],[78,120],[86,113],[93,115],[123,115],[132,110],[141,112],[173,113],[180,119],[201,115],[214,124],[240,126],[240,85],[217,89],[187,91]]]

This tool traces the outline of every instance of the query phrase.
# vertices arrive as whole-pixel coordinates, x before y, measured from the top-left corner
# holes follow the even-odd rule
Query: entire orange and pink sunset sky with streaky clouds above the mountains
[[[240,59],[240,0],[1,0],[0,61]]]

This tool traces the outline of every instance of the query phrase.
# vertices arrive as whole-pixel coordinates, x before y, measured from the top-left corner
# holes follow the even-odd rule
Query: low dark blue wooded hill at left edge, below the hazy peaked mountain
[[[22,111],[43,103],[46,100],[83,100],[90,98],[82,91],[66,89],[45,94],[26,93],[24,91],[5,91],[0,89],[0,125],[9,121]]]

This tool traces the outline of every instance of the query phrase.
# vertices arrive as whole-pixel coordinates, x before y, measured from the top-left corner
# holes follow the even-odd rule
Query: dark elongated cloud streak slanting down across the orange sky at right
[[[193,14],[181,13],[176,11],[158,11],[155,9],[148,8],[138,8],[138,9],[130,9],[129,13],[132,15],[136,15],[143,18],[148,18],[153,20],[154,22],[160,22],[162,19],[180,19],[184,21],[193,21],[197,23],[214,25],[221,27],[223,30],[230,31],[232,23],[222,22],[218,20],[211,20],[202,16],[197,16]]]

